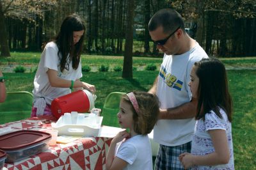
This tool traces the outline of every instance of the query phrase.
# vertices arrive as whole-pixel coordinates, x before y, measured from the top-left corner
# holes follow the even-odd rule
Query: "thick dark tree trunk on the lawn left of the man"
[[[134,0],[128,1],[127,26],[125,31],[125,52],[123,78],[132,78],[132,43],[133,43],[133,22],[134,22]]]

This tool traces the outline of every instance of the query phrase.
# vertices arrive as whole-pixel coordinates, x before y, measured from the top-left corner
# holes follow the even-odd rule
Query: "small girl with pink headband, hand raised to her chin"
[[[122,97],[117,117],[120,127],[129,128],[129,132],[119,132],[111,141],[106,169],[153,169],[147,134],[154,128],[158,115],[156,95],[134,91]]]

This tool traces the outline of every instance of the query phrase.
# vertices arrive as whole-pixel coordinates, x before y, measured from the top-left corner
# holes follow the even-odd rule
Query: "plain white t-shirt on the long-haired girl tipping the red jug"
[[[60,54],[61,56],[61,54]],[[72,62],[69,64],[69,70],[60,71],[60,59],[58,57],[58,46],[54,42],[49,42],[42,52],[40,63],[34,79],[34,101],[38,98],[44,97],[46,104],[51,105],[54,98],[61,97],[70,93],[69,88],[54,88],[50,85],[47,71],[48,69],[56,70],[58,77],[69,81],[76,81],[80,79],[82,75],[81,61],[76,70],[72,68]]]

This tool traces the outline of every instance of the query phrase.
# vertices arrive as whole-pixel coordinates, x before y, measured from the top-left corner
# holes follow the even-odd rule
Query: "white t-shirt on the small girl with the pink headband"
[[[125,170],[153,169],[148,135],[135,135],[120,143],[115,155],[128,163]]]

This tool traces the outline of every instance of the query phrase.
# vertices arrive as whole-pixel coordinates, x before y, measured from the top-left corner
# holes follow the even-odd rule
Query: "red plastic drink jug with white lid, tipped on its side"
[[[88,112],[94,107],[93,94],[86,90],[78,90],[68,95],[52,100],[51,110],[56,118],[60,118],[65,112]]]

